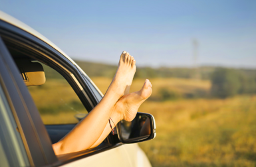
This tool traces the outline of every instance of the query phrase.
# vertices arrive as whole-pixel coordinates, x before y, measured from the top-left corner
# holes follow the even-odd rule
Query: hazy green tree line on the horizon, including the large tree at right
[[[75,61],[90,77],[113,78],[117,66]],[[196,74],[196,75],[195,75]],[[195,78],[199,76],[199,78]],[[256,69],[219,68],[202,66],[195,68],[138,67],[134,78],[195,78],[211,80],[212,97],[230,97],[237,94],[256,93]]]

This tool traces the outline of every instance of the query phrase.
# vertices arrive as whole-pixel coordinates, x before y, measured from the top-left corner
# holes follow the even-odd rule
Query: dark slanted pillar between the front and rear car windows
[[[33,99],[21,79],[19,70],[15,62],[13,62],[1,37],[0,57],[1,76],[5,79],[3,80],[4,85],[11,95],[10,102],[12,101],[13,104],[13,114],[17,116],[15,121],[18,125],[21,125],[19,131],[21,131],[27,153],[29,157],[31,157],[31,164],[42,166],[43,164],[55,162],[57,158],[51,147],[51,140],[41,121],[37,107],[33,103]],[[43,133],[37,133],[37,131]]]

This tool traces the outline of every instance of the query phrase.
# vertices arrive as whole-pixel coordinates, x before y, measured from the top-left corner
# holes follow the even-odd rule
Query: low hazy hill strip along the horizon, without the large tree
[[[116,72],[117,66],[102,64],[96,62],[86,62],[80,60],[74,60],[86,74],[90,77],[104,76],[112,78]],[[193,68],[150,68],[143,67],[137,68],[134,78],[200,78],[202,80],[209,80],[211,74],[215,71],[214,66],[202,66],[198,69]],[[256,69],[238,69],[237,72],[241,73],[243,76],[248,76],[250,78],[256,78]]]

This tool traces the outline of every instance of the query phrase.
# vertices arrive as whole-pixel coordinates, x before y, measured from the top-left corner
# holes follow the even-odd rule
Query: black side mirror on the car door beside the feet
[[[132,122],[120,121],[117,125],[120,142],[135,143],[156,137],[156,122],[149,113],[137,113]]]

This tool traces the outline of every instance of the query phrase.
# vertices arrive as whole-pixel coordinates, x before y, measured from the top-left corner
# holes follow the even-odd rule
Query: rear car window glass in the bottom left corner
[[[0,162],[1,166],[30,166],[21,135],[0,86]]]

